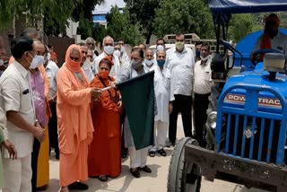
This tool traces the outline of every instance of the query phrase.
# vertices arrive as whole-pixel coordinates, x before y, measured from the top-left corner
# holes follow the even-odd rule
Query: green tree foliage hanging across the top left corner
[[[91,11],[96,4],[104,0],[1,0],[0,1],[0,30],[11,27],[13,18],[26,13],[28,27],[35,27],[36,20],[43,18],[44,31],[48,35],[65,34],[65,27],[71,18],[80,21],[80,31],[89,35],[92,31]]]

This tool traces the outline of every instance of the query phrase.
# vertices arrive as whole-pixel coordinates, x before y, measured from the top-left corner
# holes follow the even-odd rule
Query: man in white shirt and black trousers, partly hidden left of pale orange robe
[[[59,159],[59,146],[57,141],[57,110],[56,110],[56,103],[57,103],[57,72],[59,71],[59,67],[57,64],[50,60],[51,54],[46,47],[45,53],[45,71],[48,76],[49,84],[50,84],[50,91],[48,92],[48,103],[52,113],[52,117],[48,120],[48,143],[49,143],[49,150],[51,147],[54,148],[56,153],[56,159]]]

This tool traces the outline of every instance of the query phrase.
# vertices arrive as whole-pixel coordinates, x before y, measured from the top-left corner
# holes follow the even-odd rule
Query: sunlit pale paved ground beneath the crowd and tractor
[[[181,118],[178,118],[178,138],[183,137]],[[178,120],[178,121],[179,121]],[[122,173],[117,179],[109,179],[108,182],[100,182],[99,179],[89,179],[87,192],[164,192],[167,191],[167,177],[170,164],[170,156],[173,148],[167,148],[167,157],[159,155],[148,157],[147,164],[152,168],[152,173],[142,173],[141,178],[135,179],[129,173],[129,159],[122,161]],[[59,189],[58,161],[54,157],[50,160],[50,181],[47,192],[56,192]],[[73,170],[71,170],[73,171]],[[202,192],[263,192],[258,189],[248,189],[233,183],[215,180],[209,182],[203,180]]]

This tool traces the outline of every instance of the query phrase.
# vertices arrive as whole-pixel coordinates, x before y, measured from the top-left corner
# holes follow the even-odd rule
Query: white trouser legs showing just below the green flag
[[[135,147],[128,147],[128,153],[131,158],[130,167],[131,168],[143,168],[146,165],[148,147],[140,150],[135,150]]]

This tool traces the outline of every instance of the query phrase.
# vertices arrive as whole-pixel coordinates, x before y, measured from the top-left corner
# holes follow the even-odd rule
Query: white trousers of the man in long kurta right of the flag
[[[156,152],[163,149],[167,134],[169,131],[169,123],[163,121],[154,121],[154,145],[150,151]]]

